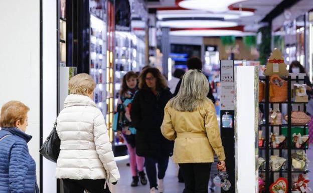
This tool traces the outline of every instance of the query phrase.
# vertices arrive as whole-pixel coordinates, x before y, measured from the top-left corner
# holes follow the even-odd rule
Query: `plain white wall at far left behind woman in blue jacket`
[[[30,107],[29,151],[37,163],[39,183],[39,1],[0,1],[0,106],[19,100]]]

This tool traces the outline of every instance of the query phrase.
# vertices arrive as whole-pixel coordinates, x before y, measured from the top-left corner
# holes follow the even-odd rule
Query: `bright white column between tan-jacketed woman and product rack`
[[[258,68],[235,67],[236,192],[258,192]]]

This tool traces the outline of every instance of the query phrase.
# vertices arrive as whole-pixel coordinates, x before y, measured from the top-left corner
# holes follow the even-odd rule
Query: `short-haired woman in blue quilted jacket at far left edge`
[[[0,193],[39,193],[36,163],[28,151],[28,111],[20,101],[4,104],[0,114]]]

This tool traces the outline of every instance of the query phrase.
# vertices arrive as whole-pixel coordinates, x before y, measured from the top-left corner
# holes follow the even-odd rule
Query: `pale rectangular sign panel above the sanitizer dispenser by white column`
[[[234,61],[221,60],[221,110],[234,109]]]

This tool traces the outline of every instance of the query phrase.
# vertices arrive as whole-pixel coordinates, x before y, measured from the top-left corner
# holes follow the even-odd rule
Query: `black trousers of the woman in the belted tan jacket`
[[[208,193],[212,163],[180,163],[185,180],[183,193]]]

